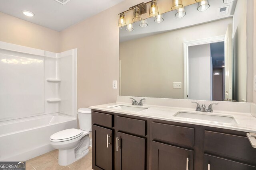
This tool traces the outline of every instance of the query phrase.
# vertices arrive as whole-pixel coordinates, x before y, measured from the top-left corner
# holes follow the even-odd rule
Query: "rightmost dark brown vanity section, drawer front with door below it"
[[[256,170],[255,165],[256,149],[245,133],[204,131],[204,170]]]

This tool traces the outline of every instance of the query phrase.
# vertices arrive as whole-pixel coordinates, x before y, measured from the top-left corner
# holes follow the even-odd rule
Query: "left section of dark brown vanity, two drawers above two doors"
[[[146,170],[146,120],[92,111],[92,168]]]

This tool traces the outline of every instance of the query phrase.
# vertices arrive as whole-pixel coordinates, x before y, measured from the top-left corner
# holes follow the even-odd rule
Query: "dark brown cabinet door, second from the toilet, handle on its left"
[[[146,139],[116,132],[118,170],[145,170]]]

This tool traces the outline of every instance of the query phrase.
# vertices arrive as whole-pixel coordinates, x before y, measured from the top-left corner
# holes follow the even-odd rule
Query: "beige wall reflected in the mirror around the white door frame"
[[[122,96],[183,98],[183,42],[225,35],[232,18],[120,43]],[[210,75],[209,75],[210,76]],[[182,82],[182,88],[173,88]]]

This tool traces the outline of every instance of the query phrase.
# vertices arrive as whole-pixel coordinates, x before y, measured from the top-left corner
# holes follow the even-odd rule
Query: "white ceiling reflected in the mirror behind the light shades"
[[[236,1],[229,4],[224,4],[223,0],[209,0],[209,4],[210,8],[204,12],[199,12],[197,10],[197,3],[186,6],[186,16],[184,16],[183,18],[176,18],[176,11],[164,13],[164,21],[161,23],[155,23],[154,18],[148,18],[148,26],[144,28],[139,26],[140,22],[138,21],[136,23],[133,23],[134,30],[131,32],[126,31],[125,26],[121,27],[119,32],[119,41],[130,41],[132,39],[163,33],[174,29],[180,29],[183,27],[189,27],[192,25],[198,25],[214,20],[232,17],[236,7]],[[218,8],[224,6],[229,6],[228,14],[218,16]]]

